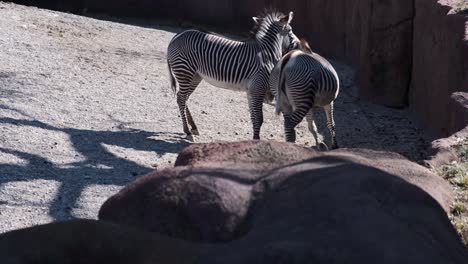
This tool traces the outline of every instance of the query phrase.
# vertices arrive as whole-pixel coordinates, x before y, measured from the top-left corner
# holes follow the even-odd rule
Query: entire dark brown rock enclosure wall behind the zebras
[[[311,47],[357,69],[362,96],[390,107],[408,104],[435,136],[466,124],[448,118],[451,92],[468,92],[468,15],[447,15],[465,0],[20,0],[74,12],[102,12],[211,25],[248,32],[265,7],[294,11],[293,28]],[[444,7],[445,6],[445,7]],[[434,19],[433,19],[434,18]],[[428,23],[432,28],[428,28]],[[433,32],[440,31],[437,34]],[[434,42],[434,38],[441,36]],[[435,56],[434,56],[435,55]],[[430,59],[434,56],[433,59]],[[442,63],[438,63],[442,62]],[[450,69],[450,71],[448,70]],[[447,74],[439,74],[447,72]],[[430,92],[426,93],[426,89]],[[425,109],[427,102],[435,102]],[[463,111],[461,111],[463,112]],[[463,112],[464,113],[464,112]],[[468,115],[468,111],[466,111]],[[463,114],[465,115],[465,114]],[[453,115],[452,115],[453,116]]]

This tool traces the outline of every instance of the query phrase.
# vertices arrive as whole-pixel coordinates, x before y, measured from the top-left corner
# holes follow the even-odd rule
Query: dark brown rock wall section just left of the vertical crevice
[[[360,92],[383,105],[403,107],[411,79],[413,3],[368,1],[366,7],[364,36],[349,32],[350,38],[363,39],[357,64]]]

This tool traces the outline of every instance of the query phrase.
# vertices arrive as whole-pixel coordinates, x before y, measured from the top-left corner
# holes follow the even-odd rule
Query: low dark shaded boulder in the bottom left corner
[[[193,263],[201,246],[95,220],[0,234],[2,264]]]

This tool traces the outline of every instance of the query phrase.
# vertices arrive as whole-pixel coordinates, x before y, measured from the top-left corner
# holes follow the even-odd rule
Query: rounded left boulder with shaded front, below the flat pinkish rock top
[[[247,215],[253,176],[190,166],[152,172],[109,198],[99,219],[190,241],[228,241]]]

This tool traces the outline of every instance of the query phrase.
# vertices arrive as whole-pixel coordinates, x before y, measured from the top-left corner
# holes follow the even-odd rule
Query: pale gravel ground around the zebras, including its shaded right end
[[[0,2],[0,232],[96,218],[126,183],[172,166],[191,143],[166,69],[180,30]],[[407,112],[360,100],[352,69],[333,64],[340,145],[423,158],[426,140]],[[194,142],[252,137],[245,93],[202,82],[189,103],[201,133]],[[262,138],[283,141],[281,117],[271,105],[264,112]],[[303,122],[298,144],[312,142]]]

